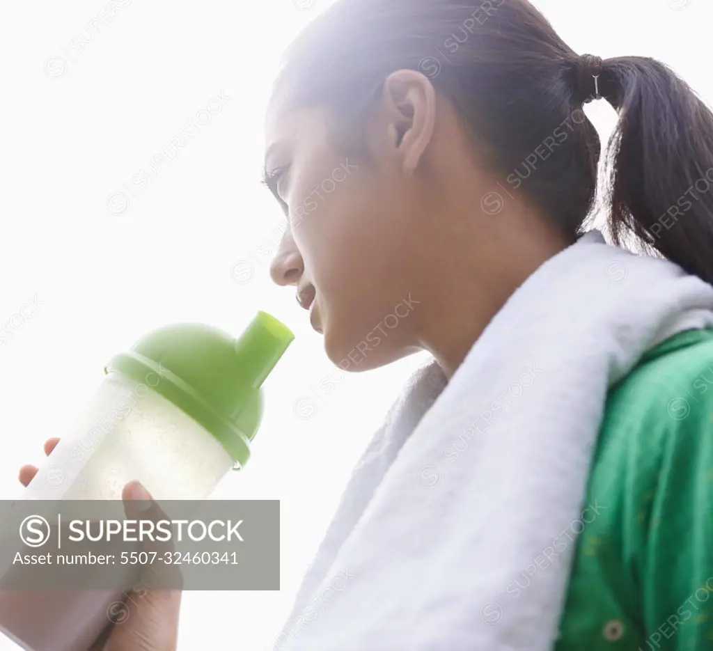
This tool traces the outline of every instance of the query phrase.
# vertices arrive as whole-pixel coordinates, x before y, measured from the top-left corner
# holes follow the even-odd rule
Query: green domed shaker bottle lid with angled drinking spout
[[[115,355],[104,371],[120,371],[173,402],[220,441],[237,469],[250,458],[262,419],[260,386],[293,339],[267,312],[238,339],[203,324],[174,324]]]

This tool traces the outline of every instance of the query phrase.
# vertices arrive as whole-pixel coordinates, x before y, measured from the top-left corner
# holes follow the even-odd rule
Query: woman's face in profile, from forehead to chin
[[[367,125],[359,158],[337,148],[333,120],[272,102],[265,172],[289,227],[271,275],[297,288],[332,362],[361,371],[416,349],[424,208],[389,116]]]

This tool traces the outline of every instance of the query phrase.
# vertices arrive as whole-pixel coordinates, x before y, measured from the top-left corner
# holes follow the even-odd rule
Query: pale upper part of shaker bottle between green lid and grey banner
[[[233,466],[215,436],[149,386],[113,371],[23,498],[120,499],[138,480],[158,500],[200,500]]]

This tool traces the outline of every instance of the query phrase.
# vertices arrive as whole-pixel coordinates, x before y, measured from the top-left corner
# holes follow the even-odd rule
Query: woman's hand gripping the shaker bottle
[[[44,444],[45,454],[49,456],[58,443],[59,439],[48,439]],[[37,471],[35,466],[22,466],[21,483],[27,486]],[[131,501],[150,500],[151,496],[138,481],[132,481],[124,487],[121,498],[125,509],[132,511]],[[155,513],[152,515],[151,511]],[[158,506],[153,503],[143,517],[159,514]],[[175,651],[180,598],[180,590],[149,589],[130,593],[125,610],[118,618],[121,623],[108,627],[88,651]]]

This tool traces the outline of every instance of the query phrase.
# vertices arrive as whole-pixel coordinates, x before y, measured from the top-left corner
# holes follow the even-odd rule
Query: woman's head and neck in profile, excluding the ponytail
[[[340,0],[297,39],[267,112],[265,177],[287,217],[271,274],[332,362],[425,349],[452,373],[575,242],[600,152],[580,59],[528,0]]]

